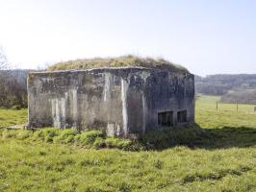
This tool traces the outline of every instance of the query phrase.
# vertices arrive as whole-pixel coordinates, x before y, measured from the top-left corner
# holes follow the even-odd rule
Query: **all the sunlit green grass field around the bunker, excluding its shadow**
[[[182,141],[159,151],[85,149],[2,129],[0,191],[256,191],[256,112],[217,111],[217,100],[196,101],[195,128],[171,130]],[[25,123],[26,110],[0,109],[0,127]]]

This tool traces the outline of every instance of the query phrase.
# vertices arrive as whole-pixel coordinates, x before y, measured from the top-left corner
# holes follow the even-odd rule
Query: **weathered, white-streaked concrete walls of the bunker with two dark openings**
[[[29,128],[100,129],[130,137],[194,122],[190,73],[143,67],[31,73]]]

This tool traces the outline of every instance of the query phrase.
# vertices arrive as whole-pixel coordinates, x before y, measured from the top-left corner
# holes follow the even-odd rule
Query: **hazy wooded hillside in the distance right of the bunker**
[[[256,74],[196,76],[195,91],[219,95],[222,103],[256,105]]]

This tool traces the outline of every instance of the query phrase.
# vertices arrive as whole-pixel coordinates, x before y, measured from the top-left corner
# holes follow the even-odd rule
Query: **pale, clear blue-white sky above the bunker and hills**
[[[0,0],[0,44],[20,68],[134,54],[256,73],[256,0]]]

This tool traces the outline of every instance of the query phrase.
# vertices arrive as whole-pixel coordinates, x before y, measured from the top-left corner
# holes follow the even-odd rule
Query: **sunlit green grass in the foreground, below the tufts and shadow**
[[[255,191],[254,148],[83,150],[2,139],[0,191]]]

